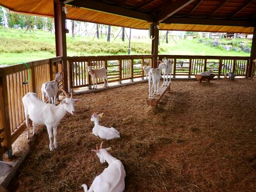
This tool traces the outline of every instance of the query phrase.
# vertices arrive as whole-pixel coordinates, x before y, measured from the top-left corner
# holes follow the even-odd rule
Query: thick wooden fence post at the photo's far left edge
[[[0,104],[1,104],[1,128],[4,128],[4,147],[7,149],[8,158],[12,157],[12,136],[8,106],[8,92],[6,76],[0,77]],[[1,154],[2,155],[2,154]]]

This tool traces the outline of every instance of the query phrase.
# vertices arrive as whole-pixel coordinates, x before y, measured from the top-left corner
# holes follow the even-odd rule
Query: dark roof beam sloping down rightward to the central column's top
[[[99,12],[111,13],[115,15],[122,15],[125,17],[131,17],[134,19],[147,20],[148,22],[153,22],[154,18],[152,15],[148,15],[141,12],[134,12],[122,6],[110,5],[108,3],[104,3],[101,1],[93,1],[93,0],[74,0],[68,3],[72,6],[78,6],[81,8],[87,8],[90,10],[95,10]]]

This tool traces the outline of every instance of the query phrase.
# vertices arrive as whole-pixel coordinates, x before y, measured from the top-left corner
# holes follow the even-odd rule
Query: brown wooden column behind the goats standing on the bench
[[[153,55],[153,68],[157,67],[157,56],[158,56],[158,44],[159,44],[159,29],[157,29],[157,24],[152,24],[152,51]]]

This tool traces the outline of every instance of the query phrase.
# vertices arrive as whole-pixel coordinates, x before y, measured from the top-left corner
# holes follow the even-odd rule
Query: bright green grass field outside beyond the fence
[[[250,53],[225,51],[220,47],[211,47],[194,40],[176,40],[170,38],[170,43],[161,42],[159,54],[181,54],[181,55],[213,55],[213,56],[250,56]],[[226,41],[226,42],[225,42]],[[239,44],[241,39],[234,40],[234,44]],[[246,41],[249,46],[251,40]],[[44,60],[55,56],[55,36],[42,30],[27,31],[24,29],[5,29],[0,28],[0,65],[12,65],[20,62]],[[221,40],[227,43],[227,40]],[[128,40],[122,42],[120,39],[107,42],[106,38],[97,40],[88,36],[75,36],[67,34],[67,55],[68,56],[99,56],[127,54]],[[150,54],[151,40],[132,39],[131,54]]]

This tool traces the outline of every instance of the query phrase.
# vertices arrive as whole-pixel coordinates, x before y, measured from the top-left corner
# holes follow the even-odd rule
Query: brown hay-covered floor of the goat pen
[[[148,84],[77,95],[76,115],[58,127],[49,151],[46,129],[9,189],[83,191],[107,164],[91,151],[102,141],[90,117],[121,138],[104,141],[124,164],[125,191],[253,191],[256,189],[256,82],[173,81],[159,108],[147,105]]]

